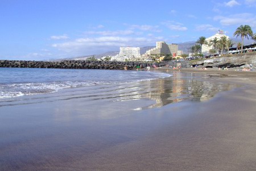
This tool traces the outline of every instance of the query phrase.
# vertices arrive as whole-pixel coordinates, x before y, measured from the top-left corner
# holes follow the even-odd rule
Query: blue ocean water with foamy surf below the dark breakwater
[[[169,76],[171,75],[154,71],[0,68],[0,99],[54,93],[68,88],[141,82]]]

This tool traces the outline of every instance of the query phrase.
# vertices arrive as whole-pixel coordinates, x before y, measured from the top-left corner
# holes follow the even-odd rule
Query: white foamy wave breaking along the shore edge
[[[126,75],[128,76],[128,75]],[[129,76],[132,78],[133,74],[130,73]],[[97,86],[104,84],[117,84],[117,83],[131,83],[131,82],[142,82],[152,79],[167,78],[171,76],[170,74],[155,72],[151,73],[150,76],[139,76],[135,79],[112,79],[110,81],[106,80],[86,80],[86,81],[64,81],[64,82],[27,82],[27,83],[11,83],[11,84],[0,84],[0,99],[18,97],[24,95],[39,95],[44,93],[54,93],[60,89],[67,88],[78,88],[87,86]]]

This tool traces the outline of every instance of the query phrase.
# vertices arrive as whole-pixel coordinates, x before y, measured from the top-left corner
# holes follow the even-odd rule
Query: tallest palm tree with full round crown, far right
[[[233,36],[240,36],[242,38],[241,52],[243,53],[243,38],[249,39],[249,37],[253,37],[253,31],[249,25],[240,25]]]

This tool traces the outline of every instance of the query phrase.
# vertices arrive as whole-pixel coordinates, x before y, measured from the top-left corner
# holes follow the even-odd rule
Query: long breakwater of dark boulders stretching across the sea
[[[116,61],[9,61],[0,60],[0,67],[19,67],[19,68],[46,68],[46,69],[104,69],[104,70],[128,70],[136,69],[137,66],[146,67],[152,63],[141,62],[116,62]],[[161,63],[156,64],[162,66]]]

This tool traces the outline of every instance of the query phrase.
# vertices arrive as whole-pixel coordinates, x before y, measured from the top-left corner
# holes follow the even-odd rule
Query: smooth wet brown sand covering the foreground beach
[[[0,170],[256,170],[256,73],[175,72],[240,86],[210,100],[138,111],[75,98],[4,106]],[[98,105],[105,110],[93,110]],[[106,117],[112,108],[121,116]]]

